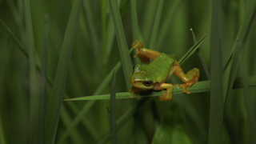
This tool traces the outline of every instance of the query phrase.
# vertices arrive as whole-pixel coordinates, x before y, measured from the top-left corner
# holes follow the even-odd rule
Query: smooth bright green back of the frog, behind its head
[[[173,74],[175,54],[160,54],[153,62],[147,65],[153,82],[163,82]]]

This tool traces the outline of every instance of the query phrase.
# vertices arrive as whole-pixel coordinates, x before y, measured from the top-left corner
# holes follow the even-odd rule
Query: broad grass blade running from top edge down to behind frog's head
[[[126,35],[122,26],[122,18],[118,9],[118,2],[116,0],[110,0],[110,9],[114,22],[114,30],[118,39],[119,54],[122,62],[122,69],[124,77],[126,79],[126,89],[130,89],[130,74],[132,73],[132,64],[130,54],[128,53],[128,47],[126,42]]]

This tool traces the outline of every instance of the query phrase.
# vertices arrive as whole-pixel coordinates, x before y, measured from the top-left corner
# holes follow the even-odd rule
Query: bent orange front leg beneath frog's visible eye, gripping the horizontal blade
[[[166,93],[163,89],[166,89]],[[154,90],[162,90],[162,96],[159,96],[160,101],[170,101],[173,98],[174,86],[170,83],[162,83],[154,86]]]

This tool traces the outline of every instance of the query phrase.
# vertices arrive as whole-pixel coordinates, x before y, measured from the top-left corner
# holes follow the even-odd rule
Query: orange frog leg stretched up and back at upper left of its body
[[[131,46],[133,46],[137,52],[137,55],[134,55],[134,58],[138,57],[143,63],[149,63],[150,59],[154,60],[161,54],[156,50],[143,48],[143,42],[139,40],[134,41]]]

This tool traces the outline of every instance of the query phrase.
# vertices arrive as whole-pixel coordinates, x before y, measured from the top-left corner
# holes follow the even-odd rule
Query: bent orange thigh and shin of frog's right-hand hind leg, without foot
[[[182,67],[179,66],[178,62],[175,61],[174,65],[174,74],[181,78],[183,82],[198,82],[199,78],[199,70],[198,68],[194,68],[193,70],[188,71],[186,74],[183,72]]]

